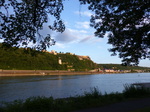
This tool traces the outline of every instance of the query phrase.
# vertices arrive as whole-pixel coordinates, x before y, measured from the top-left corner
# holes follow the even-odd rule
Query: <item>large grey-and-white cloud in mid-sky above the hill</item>
[[[73,43],[99,43],[100,38],[94,36],[92,32],[85,30],[66,29],[63,33],[57,33],[54,37],[59,47],[65,48],[66,45]]]

